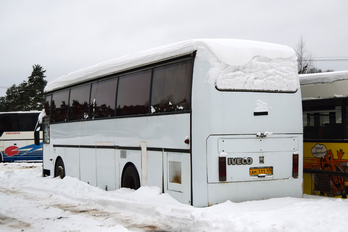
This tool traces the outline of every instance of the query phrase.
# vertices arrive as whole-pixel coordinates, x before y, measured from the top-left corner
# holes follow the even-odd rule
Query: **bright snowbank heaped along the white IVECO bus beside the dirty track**
[[[16,166],[23,169],[16,169]],[[163,223],[175,231],[345,231],[348,220],[346,199],[304,195],[304,198],[241,203],[226,201],[212,207],[194,208],[161,193],[158,187],[106,192],[69,176],[64,179],[42,177],[42,167],[26,166],[34,165],[0,163],[0,186],[47,199],[58,198],[86,209],[116,212],[119,217],[132,218],[134,223]],[[84,231],[89,230],[85,228]]]

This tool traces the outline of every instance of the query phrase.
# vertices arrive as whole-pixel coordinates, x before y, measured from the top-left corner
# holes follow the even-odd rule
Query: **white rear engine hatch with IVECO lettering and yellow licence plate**
[[[220,151],[227,153],[226,182],[291,178],[293,153],[299,150],[298,146],[298,135],[268,135],[264,138],[255,135],[209,136],[207,139],[208,183],[220,183],[218,175]],[[260,157],[263,157],[263,163],[259,162]],[[251,158],[252,163],[233,165],[228,161],[233,158]],[[273,175],[250,176],[249,169],[257,167],[272,167]]]

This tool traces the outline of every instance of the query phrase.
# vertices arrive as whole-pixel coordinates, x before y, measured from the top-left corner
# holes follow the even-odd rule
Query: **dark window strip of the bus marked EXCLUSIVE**
[[[39,113],[1,114],[0,132],[3,131],[34,131]]]

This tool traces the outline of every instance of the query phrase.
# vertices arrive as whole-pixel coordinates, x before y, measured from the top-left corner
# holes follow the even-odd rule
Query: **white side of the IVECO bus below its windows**
[[[184,143],[187,136],[190,136],[189,113],[52,123],[50,124],[50,144],[44,144],[43,166],[50,170],[51,175],[54,175],[54,165],[57,157],[60,156],[64,162],[66,175],[77,177],[101,189],[105,189],[107,185],[108,190],[114,190],[121,187],[122,171],[128,162],[135,165],[142,180],[141,150],[54,147],[53,145],[94,146],[112,143],[117,146],[140,149],[141,144],[144,144],[142,142],[145,142],[147,147],[189,150],[190,145]],[[182,157],[180,191],[171,190],[170,187],[169,190],[167,189],[167,153],[177,153]],[[49,160],[51,158],[52,161]],[[168,160],[171,158],[170,154]],[[147,185],[157,186],[164,189],[164,192],[171,192],[174,198],[189,204],[191,201],[190,160],[189,153],[147,151]]]

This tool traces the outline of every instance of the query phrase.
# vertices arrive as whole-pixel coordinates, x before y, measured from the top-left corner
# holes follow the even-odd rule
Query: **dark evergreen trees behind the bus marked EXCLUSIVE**
[[[33,71],[26,81],[12,85],[6,90],[6,96],[0,97],[0,112],[44,109],[45,72],[41,65],[33,65]]]

